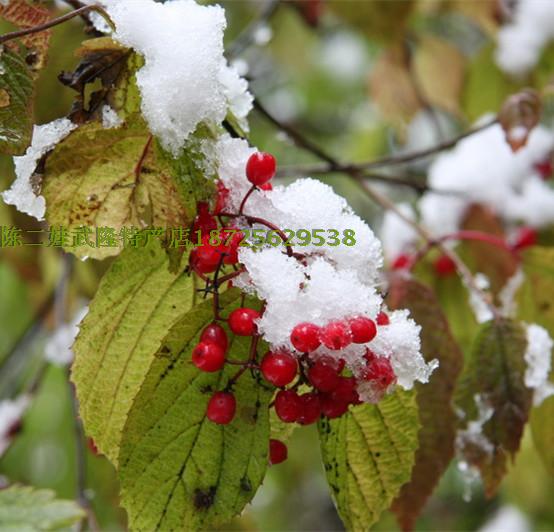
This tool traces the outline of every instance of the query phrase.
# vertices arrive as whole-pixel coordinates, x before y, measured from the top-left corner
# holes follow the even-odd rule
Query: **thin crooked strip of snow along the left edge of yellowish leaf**
[[[60,118],[48,124],[35,126],[31,145],[24,155],[14,157],[16,180],[11,188],[2,192],[2,198],[9,205],[14,205],[18,211],[35,217],[41,221],[46,212],[46,202],[43,196],[36,195],[31,184],[38,161],[52,150],[77,127],[67,118]]]

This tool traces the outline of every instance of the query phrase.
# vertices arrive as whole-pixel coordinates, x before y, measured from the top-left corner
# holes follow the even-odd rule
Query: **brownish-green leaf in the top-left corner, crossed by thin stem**
[[[43,24],[49,13],[26,0],[12,0],[0,5],[0,18],[25,29]],[[46,62],[49,39],[44,31],[0,46],[0,153],[21,155],[30,144],[34,80]]]

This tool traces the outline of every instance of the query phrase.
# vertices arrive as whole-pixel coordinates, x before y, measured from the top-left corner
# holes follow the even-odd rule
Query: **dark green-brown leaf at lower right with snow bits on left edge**
[[[508,319],[485,323],[456,389],[455,402],[465,414],[465,426],[479,418],[478,398],[492,409],[482,420],[482,434],[462,439],[459,449],[468,464],[479,469],[488,497],[496,493],[508,458],[519,449],[529,417],[533,390],[524,382],[526,347],[519,323]]]

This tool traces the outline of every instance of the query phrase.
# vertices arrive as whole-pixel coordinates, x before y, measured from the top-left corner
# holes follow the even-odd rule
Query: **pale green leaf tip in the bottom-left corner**
[[[0,529],[39,531],[71,530],[85,512],[74,501],[56,499],[50,490],[10,486],[0,490]]]

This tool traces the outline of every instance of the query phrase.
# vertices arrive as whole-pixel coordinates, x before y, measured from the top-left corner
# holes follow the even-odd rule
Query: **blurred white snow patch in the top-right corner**
[[[500,28],[497,38],[497,65],[515,76],[526,74],[554,39],[554,2],[519,0],[512,22]]]

